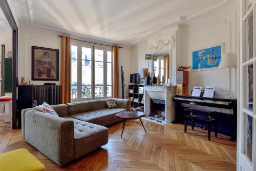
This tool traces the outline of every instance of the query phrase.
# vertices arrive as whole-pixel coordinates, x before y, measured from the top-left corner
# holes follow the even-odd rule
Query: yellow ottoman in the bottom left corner
[[[45,166],[25,148],[0,155],[0,170],[45,171]]]

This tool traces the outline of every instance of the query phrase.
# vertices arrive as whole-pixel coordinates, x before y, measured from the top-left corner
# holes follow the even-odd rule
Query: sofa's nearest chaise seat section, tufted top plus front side
[[[65,119],[74,122],[74,157],[75,159],[88,154],[100,146],[108,143],[108,128],[71,117]]]

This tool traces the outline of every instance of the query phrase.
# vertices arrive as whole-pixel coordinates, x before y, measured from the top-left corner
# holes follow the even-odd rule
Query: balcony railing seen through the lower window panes
[[[104,93],[104,85],[103,84],[95,84],[94,86],[94,97],[95,98],[103,98]],[[111,97],[111,94],[109,94],[109,86],[106,88],[106,94],[108,97]],[[92,85],[91,84],[82,84],[82,91],[81,91],[81,96],[82,99],[85,98],[92,98]],[[71,98],[72,99],[77,99],[77,85],[76,84],[71,84]]]

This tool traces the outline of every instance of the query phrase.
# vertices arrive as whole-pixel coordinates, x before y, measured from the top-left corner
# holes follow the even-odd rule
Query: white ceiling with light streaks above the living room
[[[131,44],[228,0],[9,0],[19,22]]]

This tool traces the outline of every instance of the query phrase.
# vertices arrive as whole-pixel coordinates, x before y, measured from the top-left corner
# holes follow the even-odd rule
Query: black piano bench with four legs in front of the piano
[[[192,122],[192,130],[194,130],[194,122],[199,121],[207,124],[207,131],[208,131],[208,140],[210,141],[210,132],[211,132],[211,125],[214,123],[215,125],[215,137],[217,137],[218,130],[218,122],[215,118],[216,111],[206,110],[206,109],[199,109],[199,108],[187,108],[184,111],[188,113],[188,115],[184,116],[184,132],[187,132],[187,121],[191,120]]]

